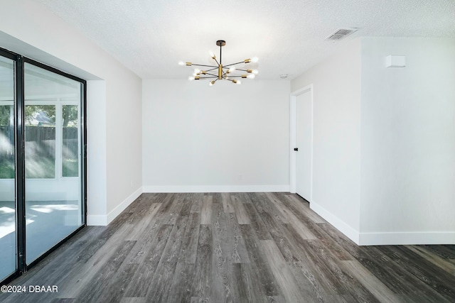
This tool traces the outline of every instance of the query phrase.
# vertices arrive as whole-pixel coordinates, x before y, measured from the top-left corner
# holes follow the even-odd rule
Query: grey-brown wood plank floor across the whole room
[[[455,246],[356,246],[289,193],[142,194],[0,302],[455,302]]]

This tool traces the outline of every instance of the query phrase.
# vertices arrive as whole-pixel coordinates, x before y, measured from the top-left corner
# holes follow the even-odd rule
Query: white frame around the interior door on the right
[[[291,92],[289,97],[289,111],[290,111],[290,127],[289,127],[289,138],[290,138],[290,146],[289,146],[289,189],[290,192],[295,194],[296,193],[296,152],[294,148],[296,148],[296,99],[297,96],[301,94],[305,94],[306,92],[310,92],[311,97],[311,184],[310,184],[310,197],[309,202],[313,199],[313,150],[314,150],[314,142],[313,142],[313,130],[314,130],[314,98],[313,98],[313,84],[306,85],[306,87],[302,87],[301,89],[297,89],[294,92]]]

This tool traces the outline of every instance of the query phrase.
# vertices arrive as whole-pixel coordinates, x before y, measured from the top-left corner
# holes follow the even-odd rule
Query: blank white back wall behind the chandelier
[[[143,81],[145,192],[289,191],[289,81]]]

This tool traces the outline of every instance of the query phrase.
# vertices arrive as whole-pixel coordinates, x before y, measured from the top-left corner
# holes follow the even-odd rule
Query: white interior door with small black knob
[[[296,96],[296,193],[311,201],[313,106],[311,90]]]

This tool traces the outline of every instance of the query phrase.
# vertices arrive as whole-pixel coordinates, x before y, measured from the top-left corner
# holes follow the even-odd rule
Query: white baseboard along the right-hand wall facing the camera
[[[455,232],[360,233],[359,245],[455,244]]]

